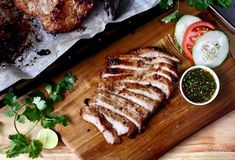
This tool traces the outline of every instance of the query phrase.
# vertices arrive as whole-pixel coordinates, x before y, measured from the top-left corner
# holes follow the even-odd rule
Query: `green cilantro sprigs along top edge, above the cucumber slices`
[[[210,5],[220,6],[222,8],[229,8],[233,0],[187,0],[189,6],[195,7],[199,10],[207,9]],[[161,0],[159,5],[161,9],[169,9],[173,6],[173,0]],[[179,0],[177,0],[177,9],[170,15],[164,17],[161,21],[164,23],[175,22],[180,18]]]

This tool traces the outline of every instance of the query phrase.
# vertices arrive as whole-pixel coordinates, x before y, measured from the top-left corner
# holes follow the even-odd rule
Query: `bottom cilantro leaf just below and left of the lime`
[[[30,158],[39,157],[42,151],[43,144],[41,141],[34,139],[28,146],[28,153]]]

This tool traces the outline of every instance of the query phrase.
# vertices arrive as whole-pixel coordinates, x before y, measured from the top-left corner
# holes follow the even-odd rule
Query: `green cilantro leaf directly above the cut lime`
[[[41,125],[44,128],[54,129],[56,124],[67,126],[69,122],[63,115],[55,115],[55,114],[50,114],[41,120]]]

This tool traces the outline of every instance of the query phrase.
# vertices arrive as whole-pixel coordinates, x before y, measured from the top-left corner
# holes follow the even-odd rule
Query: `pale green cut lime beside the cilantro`
[[[52,149],[58,144],[58,136],[51,129],[42,129],[38,132],[38,140],[43,144],[43,148]]]

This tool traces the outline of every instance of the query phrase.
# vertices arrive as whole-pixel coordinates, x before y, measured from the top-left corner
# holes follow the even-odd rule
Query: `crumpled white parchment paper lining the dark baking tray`
[[[107,17],[103,9],[103,3],[97,1],[97,5],[91,15],[82,24],[85,28],[84,31],[75,30],[70,33],[52,35],[46,33],[41,25],[35,25],[35,33],[40,35],[41,41],[37,41],[34,36],[31,36],[30,41],[33,42],[33,46],[25,50],[23,58],[18,58],[15,64],[4,64],[4,67],[0,68],[0,91],[21,79],[34,78],[78,40],[92,38],[97,33],[104,31],[106,24],[123,21],[156,6],[159,2],[160,0],[121,0],[120,16],[115,21],[112,21]],[[40,24],[37,19],[32,23]],[[37,52],[42,49],[49,49],[51,54],[38,55]]]

